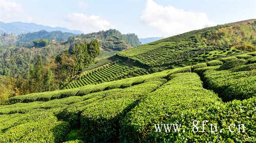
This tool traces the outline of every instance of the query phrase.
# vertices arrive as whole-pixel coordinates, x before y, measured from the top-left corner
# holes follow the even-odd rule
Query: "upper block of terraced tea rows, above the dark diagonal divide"
[[[209,46],[195,35],[205,34],[229,25],[219,25],[165,38],[117,53],[121,59],[134,60],[150,67],[176,65],[193,65],[225,56],[241,54],[242,51],[231,50],[229,46]]]

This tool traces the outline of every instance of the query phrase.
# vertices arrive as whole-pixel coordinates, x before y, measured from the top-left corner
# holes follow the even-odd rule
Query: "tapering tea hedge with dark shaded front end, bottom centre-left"
[[[118,122],[144,96],[159,88],[166,79],[148,81],[111,94],[84,108],[81,125],[87,142],[115,142]],[[143,90],[142,90],[143,89]]]

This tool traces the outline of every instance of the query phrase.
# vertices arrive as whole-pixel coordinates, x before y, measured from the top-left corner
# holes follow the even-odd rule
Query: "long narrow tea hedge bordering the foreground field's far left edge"
[[[49,101],[53,99],[66,98],[70,96],[84,96],[94,92],[113,89],[113,87],[126,88],[126,87],[129,87],[130,85],[139,84],[144,81],[154,80],[158,78],[165,78],[167,77],[167,72],[168,71],[163,71],[159,73],[148,74],[148,75],[143,75],[138,77],[131,77],[131,78],[116,80],[112,82],[104,82],[96,85],[87,85],[85,87],[75,88],[75,89],[57,90],[52,92],[41,92],[41,93],[32,93],[32,94],[22,95],[22,96],[15,96],[15,97],[9,98],[7,100],[7,103],[15,104],[19,102],[27,103],[27,102],[34,102],[34,101]],[[130,85],[127,85],[127,83],[130,83]]]

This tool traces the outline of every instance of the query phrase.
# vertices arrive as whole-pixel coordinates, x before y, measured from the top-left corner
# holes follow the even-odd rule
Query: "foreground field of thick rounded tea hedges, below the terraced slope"
[[[253,142],[255,58],[251,52],[72,90],[13,97],[9,105],[0,106],[0,137],[2,142]],[[192,121],[206,119],[218,130],[212,133],[205,126],[204,133],[193,132]],[[180,132],[156,132],[154,124],[170,123],[182,124]],[[230,123],[245,124],[246,131],[229,132]]]

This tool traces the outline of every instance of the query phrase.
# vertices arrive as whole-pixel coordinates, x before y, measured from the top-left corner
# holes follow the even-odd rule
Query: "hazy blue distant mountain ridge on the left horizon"
[[[5,23],[0,21],[0,33],[13,33],[13,34],[26,34],[32,32],[38,32],[41,30],[46,30],[48,32],[61,31],[65,33],[81,34],[81,31],[69,30],[65,27],[51,27],[44,26],[35,23],[24,23],[24,22],[10,22]]]

